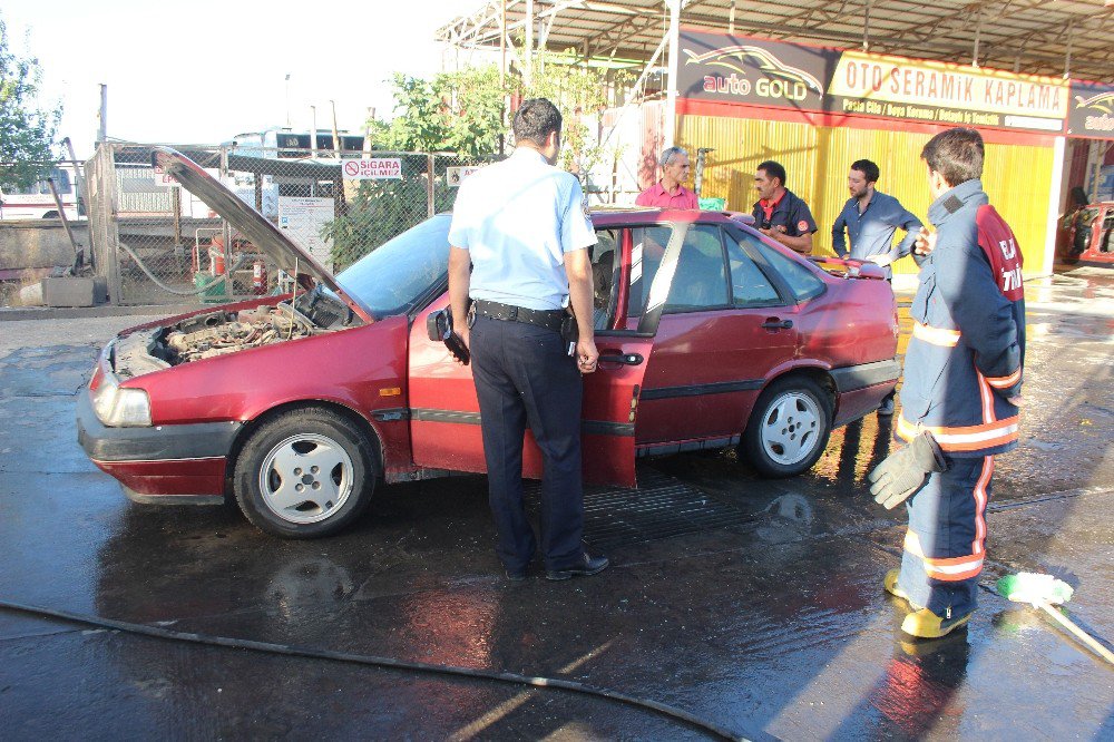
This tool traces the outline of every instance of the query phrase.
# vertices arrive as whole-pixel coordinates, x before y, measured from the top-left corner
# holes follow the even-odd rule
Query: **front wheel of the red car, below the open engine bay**
[[[260,426],[236,458],[236,502],[252,525],[268,534],[330,536],[371,501],[371,450],[364,432],[335,412],[283,412]]]

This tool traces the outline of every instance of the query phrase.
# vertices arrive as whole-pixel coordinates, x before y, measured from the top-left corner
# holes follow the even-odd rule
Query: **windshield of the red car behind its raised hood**
[[[405,314],[444,280],[451,214],[438,214],[383,243],[336,276],[336,283],[375,316]]]

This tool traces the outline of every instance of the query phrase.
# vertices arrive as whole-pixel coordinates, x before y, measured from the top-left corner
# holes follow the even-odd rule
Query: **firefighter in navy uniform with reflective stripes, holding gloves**
[[[921,158],[936,233],[915,248],[920,284],[895,430],[908,445],[868,479],[887,508],[912,497],[901,568],[883,586],[909,604],[901,629],[936,638],[975,612],[994,457],[1018,439],[1025,305],[1020,250],[979,180],[983,138],[949,129]]]

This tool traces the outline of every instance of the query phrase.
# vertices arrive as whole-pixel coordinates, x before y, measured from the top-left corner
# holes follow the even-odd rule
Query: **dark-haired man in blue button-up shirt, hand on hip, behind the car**
[[[889,281],[893,277],[890,263],[912,251],[924,225],[897,198],[874,189],[878,177],[878,165],[869,159],[851,163],[847,175],[847,189],[851,192],[851,197],[832,225],[832,247],[840,257],[881,265]],[[898,227],[906,231],[906,236],[895,247],[893,233]],[[851,238],[850,253],[844,231]],[[882,400],[878,413],[893,414],[893,392]]]

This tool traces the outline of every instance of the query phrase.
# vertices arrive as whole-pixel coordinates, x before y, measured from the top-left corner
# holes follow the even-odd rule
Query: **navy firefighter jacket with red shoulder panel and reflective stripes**
[[[941,195],[928,218],[936,247],[921,262],[910,312],[895,436],[930,430],[954,458],[1008,451],[1017,446],[1018,409],[1008,399],[1020,394],[1025,338],[1020,251],[977,179]],[[980,245],[980,221],[983,242],[1004,244]]]

